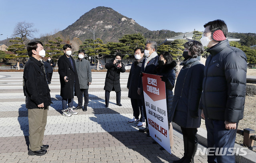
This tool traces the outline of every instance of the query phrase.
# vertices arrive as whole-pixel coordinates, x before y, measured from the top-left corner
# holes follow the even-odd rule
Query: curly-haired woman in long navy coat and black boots
[[[185,50],[181,62],[182,69],[177,77],[173,103],[172,121],[181,127],[184,142],[184,156],[173,161],[174,163],[194,163],[194,155],[198,146],[197,128],[201,124],[201,110],[199,109],[204,65],[200,56],[204,47],[198,41],[189,41],[184,44]]]

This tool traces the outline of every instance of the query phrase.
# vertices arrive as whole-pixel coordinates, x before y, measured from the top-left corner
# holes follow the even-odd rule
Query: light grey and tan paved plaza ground
[[[171,163],[183,155],[182,135],[173,131],[174,145],[170,155],[145,133],[138,132],[127,97],[129,73],[121,74],[121,104],[115,105],[115,92],[105,108],[103,90],[106,72],[93,72],[89,88],[88,111],[78,115],[61,115],[60,82],[54,72],[49,85],[50,106],[44,133],[44,144],[50,145],[43,156],[28,156],[28,117],[22,89],[23,72],[0,72],[0,163]],[[77,106],[77,98],[74,99]],[[203,148],[201,145],[199,148]],[[196,163],[207,162],[207,156],[195,156]]]

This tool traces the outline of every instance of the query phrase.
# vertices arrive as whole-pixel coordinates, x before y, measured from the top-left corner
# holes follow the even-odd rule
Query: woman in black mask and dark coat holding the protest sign
[[[173,146],[173,128],[171,125],[171,104],[173,98],[173,87],[175,84],[176,78],[176,62],[173,61],[171,54],[169,52],[162,52],[159,56],[158,66],[155,69],[156,75],[162,76],[162,81],[165,82],[165,92],[166,92],[166,101],[167,101],[167,116],[169,122],[169,137],[170,137],[170,146]],[[161,147],[160,149],[163,149]]]

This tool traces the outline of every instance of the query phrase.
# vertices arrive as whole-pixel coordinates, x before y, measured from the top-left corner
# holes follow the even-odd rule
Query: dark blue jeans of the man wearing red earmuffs
[[[238,123],[236,123],[236,128],[237,126]],[[226,129],[224,120],[208,118],[206,118],[206,129],[208,151],[210,151],[210,154],[214,154],[207,156],[208,163],[235,163],[235,155],[231,155],[232,153],[228,149],[234,148],[236,129]],[[223,151],[225,148],[227,149],[225,155],[216,155],[216,149],[218,149],[218,154],[224,153],[221,152],[220,148],[223,148]]]

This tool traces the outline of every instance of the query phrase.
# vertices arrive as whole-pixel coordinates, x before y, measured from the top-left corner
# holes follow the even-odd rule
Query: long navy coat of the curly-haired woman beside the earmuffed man
[[[198,128],[201,124],[201,109],[199,108],[204,78],[204,65],[200,56],[189,58],[183,65],[177,77],[173,103],[171,107],[172,121],[185,128]]]

